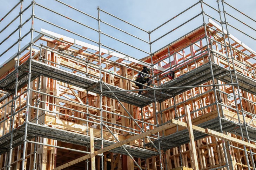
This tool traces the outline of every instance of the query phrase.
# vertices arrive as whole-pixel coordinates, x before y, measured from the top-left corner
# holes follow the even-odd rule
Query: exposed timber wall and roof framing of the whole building
[[[211,22],[208,24],[210,27],[218,28],[215,23]],[[47,34],[54,34],[53,32],[42,30],[44,33]],[[208,36],[215,39],[216,41],[223,43],[223,39],[220,35],[212,30],[207,29]],[[62,35],[55,34],[56,37],[62,38],[67,43],[76,43],[77,45],[81,45],[82,49],[92,49],[97,54],[99,53],[99,48],[96,46],[92,46],[87,43],[80,42],[75,39],[71,39],[69,37],[65,37]],[[208,55],[207,52],[203,52],[206,50],[206,44],[203,40],[200,40],[204,37],[204,28],[201,27],[190,34],[184,36],[183,38],[177,40],[176,42],[170,44],[169,46],[165,47],[164,49],[160,50],[153,56],[153,63],[158,62],[166,58],[168,55],[168,49],[170,50],[170,54],[174,54],[171,57],[171,65],[176,65],[174,67],[175,77],[182,77],[183,74],[193,71],[193,69],[208,63]],[[241,49],[242,51],[250,53],[250,56],[255,57],[255,53],[246,45],[242,44],[239,40],[232,37],[234,43],[232,46]],[[42,57],[43,59],[55,62],[53,64],[48,61],[44,61],[46,64],[59,67],[62,66],[67,67],[67,70],[76,74],[86,75],[92,79],[95,79],[91,75],[99,76],[99,69],[87,66],[85,61],[98,63],[99,59],[92,54],[88,54],[83,50],[75,50],[72,49],[69,45],[65,43],[58,42],[56,40],[41,37],[40,40],[43,40],[47,43],[49,47],[55,47],[56,49],[64,50],[63,52],[72,52],[76,56],[76,59],[72,59],[69,57],[63,57],[61,55],[55,54],[51,51],[42,50]],[[196,42],[196,43],[195,43]],[[195,43],[191,45],[192,43]],[[186,47],[187,46],[187,47]],[[186,48],[185,48],[186,47]],[[183,49],[184,48],[184,49]],[[183,49],[183,50],[181,50]],[[211,49],[215,51],[214,56],[210,56],[215,64],[218,64],[224,68],[228,68],[228,62],[225,60],[224,56],[227,55],[222,46],[218,43],[214,43],[211,45]],[[181,50],[181,51],[180,51]],[[179,52],[178,52],[179,51]],[[129,80],[125,80],[120,78],[120,76],[127,77],[129,79],[134,80],[135,75],[137,74],[136,71],[132,69],[128,69],[123,65],[133,67],[135,69],[140,70],[143,65],[141,62],[136,62],[133,59],[128,59],[127,56],[119,55],[118,53],[112,53],[110,51],[103,50],[102,56],[106,58],[114,58],[117,57],[118,59],[116,62],[121,64],[116,64],[115,62],[110,62],[107,60],[103,60],[102,63],[104,64],[102,73],[102,80],[108,84],[113,86],[120,87],[125,90],[136,89],[137,87],[135,84]],[[196,55],[197,53],[202,52],[200,55],[194,57],[193,59],[188,60],[188,58]],[[255,74],[255,64],[249,61],[248,56],[245,56],[241,52],[233,51],[232,57],[235,58],[235,69],[237,72],[250,77],[251,79],[256,81]],[[39,54],[36,50],[33,52],[33,56],[35,60],[38,60]],[[21,64],[27,60],[29,57],[29,53],[25,54],[21,58]],[[231,57],[231,56],[229,56]],[[167,59],[167,58],[166,58]],[[145,57],[142,59],[145,62],[151,63],[150,57]],[[188,60],[188,61],[187,61]],[[150,61],[150,62],[149,62]],[[238,62],[239,61],[239,62]],[[230,61],[231,62],[231,61]],[[13,63],[12,63],[13,64]],[[59,65],[57,65],[59,64]],[[162,61],[159,65],[155,66],[156,70],[155,73],[161,73],[159,75],[159,84],[165,83],[169,81],[166,77],[167,72],[165,70],[169,68],[169,63],[166,61]],[[69,69],[68,69],[69,68]],[[231,67],[233,68],[233,66]],[[12,72],[14,68],[8,66],[8,69],[0,69],[0,72],[5,71],[0,80],[4,79],[6,75]],[[80,72],[77,72],[77,71]],[[81,73],[82,72],[82,73]],[[86,74],[85,74],[86,73]],[[112,74],[114,73],[114,74]],[[119,75],[119,76],[117,76]],[[224,82],[218,81],[221,84]],[[155,84],[157,82],[154,82]],[[212,84],[212,81],[208,81],[202,85],[209,85]],[[38,78],[31,82],[32,89],[37,89],[39,86]],[[18,91],[18,95],[23,93],[27,89],[27,86],[22,87]],[[50,95],[54,95],[57,97],[61,97],[62,99],[57,99],[52,96],[37,94],[33,92],[31,94],[31,104],[34,106],[36,103],[36,99],[40,97],[40,100],[43,101],[40,103],[40,108],[48,110],[39,111],[39,124],[54,127],[62,130],[66,130],[69,132],[79,133],[79,134],[87,134],[87,130],[90,131],[90,152],[91,154],[82,154],[75,151],[59,149],[54,147],[48,147],[43,145],[37,145],[36,150],[36,169],[39,170],[60,170],[64,168],[70,168],[75,170],[82,170],[85,169],[85,160],[90,158],[91,168],[100,170],[100,158],[99,154],[104,153],[104,167],[110,166],[110,169],[114,170],[121,170],[127,169],[132,170],[136,169],[136,165],[133,163],[132,158],[126,155],[121,155],[118,153],[112,153],[110,150],[119,147],[121,145],[130,145],[133,147],[143,148],[143,138],[145,143],[149,143],[149,140],[145,137],[150,136],[153,141],[156,140],[155,133],[160,132],[162,136],[168,136],[170,134],[175,134],[182,130],[188,129],[190,143],[182,144],[178,147],[172,147],[164,151],[162,151],[162,157],[160,158],[159,155],[153,156],[147,159],[144,158],[136,158],[133,159],[138,162],[142,169],[149,169],[149,170],[159,170],[160,169],[160,160],[163,160],[163,167],[164,169],[179,169],[181,163],[183,165],[183,169],[200,169],[200,170],[207,170],[212,168],[221,167],[226,164],[224,160],[224,153],[223,153],[223,140],[230,145],[235,147],[230,147],[228,154],[229,160],[232,160],[229,164],[233,166],[235,170],[240,169],[248,169],[248,166],[245,162],[245,153],[243,150],[237,148],[243,148],[245,146],[247,149],[252,149],[253,152],[256,152],[256,146],[254,142],[248,142],[241,140],[241,136],[237,134],[232,134],[230,132],[225,132],[222,134],[220,132],[216,132],[211,130],[210,128],[200,128],[199,125],[210,121],[212,119],[216,119],[219,117],[217,110],[220,111],[220,117],[225,118],[229,121],[233,121],[239,123],[239,119],[243,121],[242,114],[236,114],[234,111],[235,109],[235,100],[229,95],[233,94],[231,86],[220,86],[218,90],[222,91],[223,93],[218,93],[217,101],[223,104],[224,106],[217,108],[215,102],[216,98],[214,96],[214,91],[212,87],[196,87],[190,90],[187,90],[179,95],[174,96],[173,98],[167,99],[161,103],[157,103],[157,105],[149,104],[148,106],[138,108],[136,106],[130,105],[128,103],[122,103],[124,107],[129,111],[130,114],[135,119],[143,120],[146,123],[156,124],[156,114],[154,110],[160,111],[161,109],[164,110],[161,112],[161,121],[164,125],[155,127],[149,124],[142,124],[141,122],[137,121],[137,123],[141,126],[141,128],[145,131],[144,133],[139,132],[140,129],[134,124],[134,122],[129,118],[121,117],[120,115],[124,115],[128,117],[128,114],[120,103],[118,103],[115,99],[103,96],[102,97],[102,109],[103,109],[103,121],[105,124],[110,127],[110,130],[114,133],[114,135],[118,138],[120,142],[115,141],[114,136],[110,132],[108,132],[105,128],[103,128],[103,138],[105,140],[115,141],[114,145],[104,147],[103,149],[94,150],[93,148],[93,136],[100,138],[100,126],[97,124],[99,120],[96,120],[100,116],[100,111],[95,108],[99,108],[99,94],[95,94],[89,91],[86,93],[86,89],[82,89],[79,87],[75,87],[68,83],[63,83],[57,80],[49,79],[47,77],[41,77],[41,91],[43,93],[47,93]],[[237,89],[236,89],[237,90]],[[237,91],[236,91],[237,93]],[[227,95],[229,94],[229,95]],[[256,96],[253,94],[248,93],[247,91],[240,90],[240,94],[242,97],[248,99],[243,100],[242,103],[238,104],[238,109],[243,109],[251,114],[255,114],[256,111]],[[237,95],[237,94],[236,94]],[[2,95],[1,95],[2,96]],[[6,104],[7,102],[11,101],[12,96],[6,98],[4,101],[0,103],[0,106]],[[66,100],[67,99],[67,100]],[[16,111],[20,110],[26,105],[26,93],[21,95],[17,100],[17,108]],[[87,104],[93,106],[94,108],[90,108],[85,106]],[[76,102],[73,103],[72,101]],[[175,106],[174,106],[175,103]],[[0,110],[0,119],[4,120],[11,114],[11,103],[6,105],[5,107],[1,108]],[[59,105],[59,106],[58,106]],[[220,105],[219,105],[220,106]],[[160,109],[161,108],[161,109]],[[168,108],[168,109],[167,109]],[[93,116],[88,116],[88,113]],[[106,112],[108,111],[108,112]],[[143,111],[143,115],[141,112]],[[35,122],[35,109],[31,109],[29,112],[29,119],[32,122]],[[59,114],[55,114],[53,112],[59,112],[65,114],[66,116],[62,116]],[[111,114],[109,112],[113,112],[115,114]],[[15,128],[19,125],[22,125],[24,122],[24,115],[25,110],[21,110],[17,116],[15,117]],[[70,116],[78,117],[83,120],[74,119]],[[88,116],[88,117],[87,117]],[[178,118],[177,118],[178,117]],[[90,120],[86,123],[86,119]],[[94,118],[94,119],[93,119]],[[177,120],[175,120],[177,118]],[[245,117],[246,123],[249,123],[252,116],[247,114]],[[241,122],[243,123],[243,122]],[[96,125],[96,128],[91,128],[91,126]],[[177,126],[178,125],[178,126]],[[250,123],[251,127],[256,128],[256,121],[252,120]],[[4,121],[0,124],[0,136],[5,135],[9,132],[10,122]],[[133,133],[138,133],[134,135],[133,133],[128,133],[121,130],[131,131]],[[207,134],[205,138],[195,140],[193,131],[202,132]],[[33,139],[34,140],[34,139]],[[46,139],[39,137],[37,139],[38,142],[49,144],[52,146],[61,146],[67,147],[77,150],[86,150],[85,146],[79,146],[72,143],[65,143],[61,141],[55,141],[52,139]],[[226,145],[228,146],[228,145]],[[146,149],[151,151],[156,151],[155,148],[146,146]],[[26,167],[27,169],[32,169],[33,167],[33,152],[34,152],[34,145],[28,144],[25,148],[26,151]],[[21,166],[22,161],[22,145],[14,148],[13,150],[13,162],[12,166],[15,169],[19,169]],[[254,156],[254,159],[256,157]],[[7,154],[4,153],[0,155],[0,169],[4,169],[7,162]]]

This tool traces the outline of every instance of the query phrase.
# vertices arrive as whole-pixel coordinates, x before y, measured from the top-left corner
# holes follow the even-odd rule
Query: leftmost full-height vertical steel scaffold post
[[[19,39],[18,39],[18,53],[17,53],[17,61],[16,61],[16,80],[15,80],[15,92],[13,94],[13,108],[12,108],[12,115],[11,115],[11,124],[10,130],[11,130],[11,142],[10,142],[10,147],[9,147],[9,162],[7,169],[10,170],[12,167],[12,153],[13,153],[13,130],[15,126],[15,111],[16,111],[16,97],[18,93],[18,83],[19,83],[19,62],[20,62],[20,42],[21,42],[21,24],[22,24],[22,5],[23,5],[23,0],[20,0],[20,25],[19,25]]]

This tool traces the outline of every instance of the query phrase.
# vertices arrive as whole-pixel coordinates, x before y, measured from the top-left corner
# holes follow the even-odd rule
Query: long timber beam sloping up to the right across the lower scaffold
[[[141,134],[132,136],[132,137],[126,139],[126,140],[117,142],[117,143],[115,143],[115,144],[113,144],[113,145],[110,145],[110,146],[108,146],[108,147],[106,147],[106,148],[99,149],[99,150],[95,151],[94,153],[95,153],[95,155],[99,155],[99,154],[104,153],[104,152],[106,152],[106,151],[109,151],[109,150],[115,149],[115,148],[117,148],[117,147],[120,147],[120,146],[122,146],[122,145],[125,145],[125,144],[127,144],[127,143],[130,143],[130,142],[132,142],[132,141],[135,141],[135,140],[144,138],[144,137],[146,137],[146,136],[153,135],[153,134],[155,134],[155,133],[157,133],[157,132],[159,132],[159,131],[166,130],[167,128],[175,127],[175,126],[176,126],[176,125],[174,125],[174,124],[172,123],[172,120],[171,120],[170,123],[168,123],[168,124],[165,124],[165,125],[156,127],[156,128],[154,128],[154,129],[152,129],[152,130],[149,130],[149,131],[147,131],[147,132],[144,132],[144,133],[141,133]],[[82,156],[82,157],[80,157],[80,158],[77,158],[77,159],[75,159],[75,160],[73,160],[73,161],[70,161],[70,162],[65,163],[65,164],[63,164],[63,165],[60,165],[59,167],[56,167],[56,168],[54,168],[53,170],[60,170],[60,169],[67,168],[67,167],[69,167],[69,166],[71,166],[71,165],[74,165],[74,164],[76,164],[76,163],[79,163],[79,162],[81,162],[81,161],[84,161],[84,160],[86,160],[86,159],[88,159],[88,158],[90,158],[90,154],[87,154],[87,155]]]

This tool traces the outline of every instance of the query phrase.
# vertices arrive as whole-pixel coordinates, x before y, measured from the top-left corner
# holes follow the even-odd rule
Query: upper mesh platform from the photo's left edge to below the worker
[[[27,72],[29,71],[29,62],[25,62],[19,67],[19,87],[23,87],[28,81]],[[100,84],[97,80],[90,79],[88,77],[75,74],[72,72],[68,72],[64,69],[57,68],[43,62],[39,62],[36,60],[32,60],[31,65],[31,72],[32,72],[32,80],[36,78],[36,76],[41,75],[45,77],[49,77],[50,79],[58,80],[64,83],[68,83],[70,85],[80,87],[83,89],[90,89],[90,91],[99,94],[100,93]],[[12,72],[8,75],[8,77],[0,82],[0,89],[6,91],[13,91],[15,89],[15,79],[16,79],[16,72]],[[107,84],[107,86],[113,90],[122,91],[123,89],[119,87],[112,86]],[[105,84],[102,84],[102,91],[109,91]],[[115,99],[112,93],[103,93],[103,96],[107,96],[110,98]],[[152,98],[148,98],[145,96],[137,95],[133,92],[121,92],[115,93],[117,98],[124,103],[132,104],[135,106],[146,106],[153,102]]]

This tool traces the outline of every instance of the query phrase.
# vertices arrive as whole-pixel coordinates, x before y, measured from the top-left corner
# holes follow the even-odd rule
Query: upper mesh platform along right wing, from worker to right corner
[[[181,76],[176,77],[175,79],[168,81],[157,88],[168,88],[168,87],[182,87],[182,86],[198,86],[200,84],[206,83],[212,79],[211,71],[210,71],[210,64],[213,67],[213,74],[214,77],[217,78],[225,73],[228,72],[227,69],[218,66],[214,63],[207,63],[202,66],[199,66]],[[167,94],[169,96],[178,95],[187,91],[191,88],[177,88],[177,89],[168,89],[168,90],[157,90],[163,94]],[[153,91],[149,91],[148,93],[143,94],[144,96],[150,97],[154,95]],[[163,96],[163,99],[157,98],[157,101],[162,102],[166,100],[167,96]],[[170,97],[169,97],[170,98]]]

